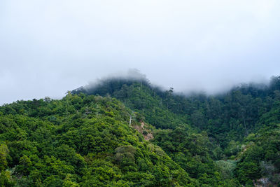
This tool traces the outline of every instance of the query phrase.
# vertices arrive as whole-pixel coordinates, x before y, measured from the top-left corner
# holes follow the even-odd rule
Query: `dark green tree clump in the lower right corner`
[[[250,136],[246,140],[248,146],[241,159],[237,163],[235,170],[237,179],[241,183],[248,183],[252,179],[267,177],[273,183],[279,183],[276,175],[280,171],[280,125],[271,129],[264,127],[259,130],[254,137]]]

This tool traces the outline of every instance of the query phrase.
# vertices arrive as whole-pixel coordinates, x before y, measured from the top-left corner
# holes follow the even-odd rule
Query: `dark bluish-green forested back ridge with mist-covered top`
[[[225,148],[230,141],[241,141],[265,125],[262,116],[280,100],[279,90],[280,77],[272,77],[269,85],[241,84],[224,94],[210,96],[174,94],[173,88],[162,90],[145,78],[107,78],[72,93],[110,95],[157,128],[174,130],[183,125],[198,132],[204,130]],[[276,117],[274,123],[279,123]]]

